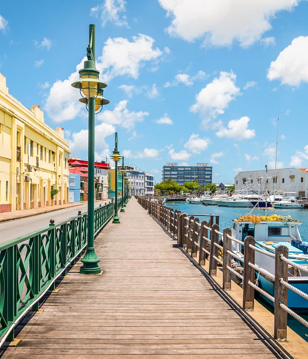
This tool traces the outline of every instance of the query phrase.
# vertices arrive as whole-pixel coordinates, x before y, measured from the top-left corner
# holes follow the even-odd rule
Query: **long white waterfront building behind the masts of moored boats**
[[[277,173],[277,176],[276,176]],[[307,168],[279,168],[271,170],[241,171],[235,176],[235,190],[239,190],[247,182],[252,186],[261,181],[267,191],[295,192],[298,198],[308,196],[308,169]]]

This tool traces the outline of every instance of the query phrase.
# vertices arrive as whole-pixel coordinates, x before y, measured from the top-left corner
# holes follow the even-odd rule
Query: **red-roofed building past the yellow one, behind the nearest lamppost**
[[[81,201],[88,201],[88,161],[79,157],[70,157],[70,173],[79,173],[81,175]],[[108,198],[108,169],[109,164],[94,162],[95,175],[95,199],[105,200]],[[73,170],[73,171],[72,171]]]

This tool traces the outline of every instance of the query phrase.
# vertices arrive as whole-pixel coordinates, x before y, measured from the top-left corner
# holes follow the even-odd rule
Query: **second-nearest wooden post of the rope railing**
[[[248,282],[255,282],[255,270],[248,263],[255,264],[255,251],[249,245],[255,245],[255,238],[247,235],[244,240],[244,279],[243,279],[243,309],[254,310],[255,289]]]

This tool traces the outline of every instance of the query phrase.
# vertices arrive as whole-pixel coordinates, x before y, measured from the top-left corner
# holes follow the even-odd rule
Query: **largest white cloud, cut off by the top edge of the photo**
[[[272,28],[278,11],[292,10],[300,0],[159,0],[171,24],[166,31],[185,41],[202,39],[204,45],[248,47]]]

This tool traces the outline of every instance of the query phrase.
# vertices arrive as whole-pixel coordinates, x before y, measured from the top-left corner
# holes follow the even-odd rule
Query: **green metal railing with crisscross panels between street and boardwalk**
[[[120,206],[119,206],[120,207]],[[94,210],[97,236],[113,217],[113,204]],[[14,338],[13,328],[47,290],[55,288],[57,277],[80,256],[87,244],[87,213],[0,245],[0,346]]]

